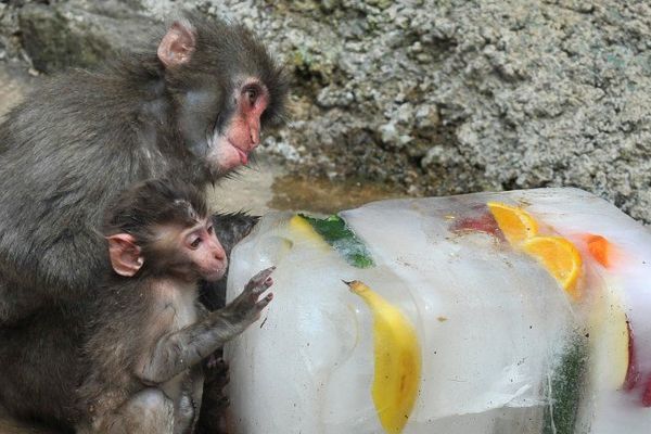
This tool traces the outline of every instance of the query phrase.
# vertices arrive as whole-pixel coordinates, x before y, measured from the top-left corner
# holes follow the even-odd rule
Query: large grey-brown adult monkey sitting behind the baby
[[[69,429],[80,381],[71,358],[108,267],[93,229],[102,209],[144,179],[203,188],[246,164],[260,129],[280,119],[285,92],[244,28],[190,16],[142,52],[50,80],[8,114],[0,413]]]

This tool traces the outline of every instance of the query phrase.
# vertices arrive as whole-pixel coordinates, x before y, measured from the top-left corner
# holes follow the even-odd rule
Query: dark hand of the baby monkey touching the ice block
[[[255,275],[244,286],[244,291],[224,309],[241,319],[247,324],[252,324],[260,317],[260,311],[271,302],[273,294],[269,293],[266,297],[259,299],[259,296],[273,284],[271,273],[276,267],[269,267]]]

